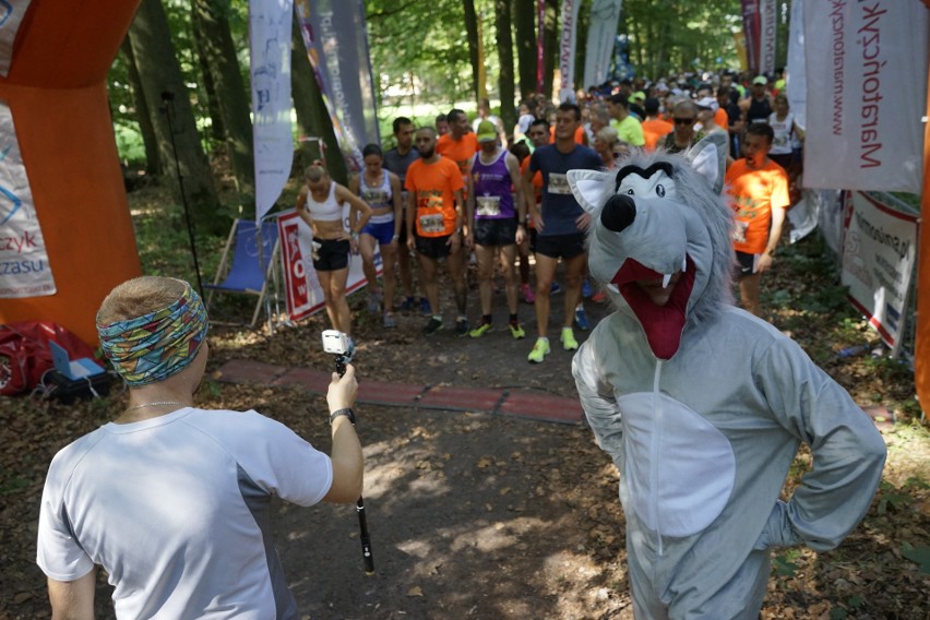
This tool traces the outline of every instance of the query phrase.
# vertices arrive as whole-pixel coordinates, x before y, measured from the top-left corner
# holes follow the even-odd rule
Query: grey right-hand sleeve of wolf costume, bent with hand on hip
[[[849,394],[785,338],[768,347],[753,368],[773,414],[813,455],[787,504],[778,502],[768,535],[797,538],[822,551],[836,547],[869,510],[882,477],[886,449],[872,420]],[[778,545],[778,540],[770,540]]]

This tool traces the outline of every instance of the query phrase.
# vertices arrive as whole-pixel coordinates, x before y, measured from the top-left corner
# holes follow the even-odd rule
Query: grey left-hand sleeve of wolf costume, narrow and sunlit
[[[613,463],[619,462],[623,446],[623,425],[610,383],[600,374],[595,338],[584,343],[572,359],[572,374],[579,391],[585,417],[591,425],[597,445],[607,452]]]

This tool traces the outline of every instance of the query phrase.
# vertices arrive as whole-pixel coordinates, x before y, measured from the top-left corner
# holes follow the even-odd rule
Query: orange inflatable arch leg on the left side
[[[106,91],[138,7],[33,0],[22,16],[0,102],[12,114],[57,293],[0,299],[0,323],[53,321],[96,346],[100,301],[142,273]]]

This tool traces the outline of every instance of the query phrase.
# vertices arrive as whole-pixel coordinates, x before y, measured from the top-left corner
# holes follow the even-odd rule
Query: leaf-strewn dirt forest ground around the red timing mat
[[[158,211],[163,192],[130,194],[136,213]],[[136,216],[138,229],[144,224]],[[170,218],[168,218],[170,219]],[[179,235],[183,239],[183,236]],[[147,252],[140,239],[143,254]],[[162,254],[164,247],[159,249]],[[181,253],[183,251],[181,250]],[[146,261],[146,259],[143,259]],[[165,264],[148,261],[147,273]],[[474,273],[470,315],[477,317]],[[926,619],[930,610],[930,438],[914,401],[913,374],[884,357],[838,351],[878,341],[849,308],[833,262],[815,238],[779,254],[764,279],[767,318],[796,338],[861,406],[885,408],[877,419],[889,446],[879,493],[865,522],[837,550],[775,553],[763,618]],[[451,309],[451,300],[444,299]],[[573,396],[571,354],[553,347],[542,365],[503,330],[480,339],[451,330],[420,334],[421,317],[401,317],[385,331],[350,298],[361,380],[458,388],[525,388]],[[494,296],[498,325],[503,295]],[[609,309],[586,303],[592,323]],[[561,319],[553,298],[552,324]],[[243,308],[225,308],[227,313]],[[532,327],[533,310],[521,303]],[[446,324],[451,325],[450,310]],[[214,373],[230,359],[327,369],[314,315],[274,335],[265,330],[211,330],[211,377],[198,404],[257,410],[329,450],[325,403],[296,389],[234,385]],[[532,329],[527,329],[532,336]],[[577,332],[580,339],[585,336]],[[43,480],[51,456],[79,436],[116,417],[119,390],[106,398],[63,405],[7,398],[0,406],[0,619],[48,618],[45,580],[35,565]],[[377,572],[362,571],[351,506],[275,506],[277,548],[305,618],[313,619],[586,619],[632,618],[617,473],[586,426],[558,425],[478,413],[359,407],[366,453],[366,505]],[[809,467],[806,451],[785,492]],[[100,577],[98,618],[112,618]]]

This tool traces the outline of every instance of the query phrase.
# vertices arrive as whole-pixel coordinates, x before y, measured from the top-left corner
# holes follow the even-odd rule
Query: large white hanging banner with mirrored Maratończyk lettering
[[[920,0],[804,2],[804,187],[919,194],[930,10]]]

